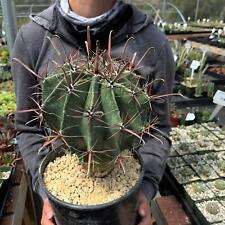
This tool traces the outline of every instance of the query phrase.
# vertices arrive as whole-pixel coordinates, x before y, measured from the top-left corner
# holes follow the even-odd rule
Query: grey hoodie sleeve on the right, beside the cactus
[[[168,42],[165,41],[158,54],[153,73],[150,75],[151,79],[153,77],[150,121],[156,119],[156,125],[155,129],[152,129],[152,137],[147,138],[146,143],[139,150],[145,167],[142,191],[149,200],[158,191],[171,145],[170,97],[158,97],[172,93],[174,74],[172,52]]]

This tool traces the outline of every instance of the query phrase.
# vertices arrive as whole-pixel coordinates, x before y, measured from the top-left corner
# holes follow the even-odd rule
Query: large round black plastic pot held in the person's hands
[[[137,222],[138,194],[142,183],[144,170],[143,161],[137,153],[134,157],[141,164],[139,180],[124,196],[105,204],[84,206],[65,203],[53,196],[43,183],[43,173],[46,166],[65,151],[51,151],[42,161],[39,176],[45,192],[53,207],[57,225],[135,225]]]

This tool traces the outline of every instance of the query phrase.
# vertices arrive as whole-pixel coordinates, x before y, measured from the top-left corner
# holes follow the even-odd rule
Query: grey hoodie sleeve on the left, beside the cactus
[[[39,164],[48,152],[48,149],[38,153],[38,150],[43,145],[45,139],[45,130],[40,124],[38,112],[38,79],[25,68],[20,62],[15,59],[19,59],[31,70],[35,68],[34,54],[30,54],[28,49],[35,51],[40,46],[34,44],[33,48],[28,48],[26,41],[23,38],[22,29],[17,34],[17,38],[14,44],[13,60],[12,60],[12,74],[16,88],[16,129],[19,151],[25,163],[26,170],[32,176],[33,189],[42,197],[45,197],[44,190],[39,184],[38,168]],[[15,58],[15,59],[14,59]],[[23,112],[23,111],[27,112]]]

